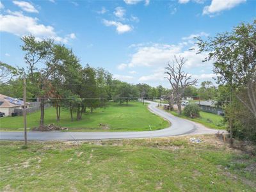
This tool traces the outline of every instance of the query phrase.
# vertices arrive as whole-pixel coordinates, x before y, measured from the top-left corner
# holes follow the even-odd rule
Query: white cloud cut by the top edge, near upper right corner
[[[223,10],[230,10],[244,2],[246,2],[246,0],[212,0],[209,6],[204,7],[203,15],[211,15]]]

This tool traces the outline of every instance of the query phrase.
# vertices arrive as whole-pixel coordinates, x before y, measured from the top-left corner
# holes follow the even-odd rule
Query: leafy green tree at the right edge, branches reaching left
[[[198,38],[197,45],[198,52],[209,52],[204,61],[214,60],[218,83],[228,84],[232,94],[256,118],[256,20],[206,41]],[[239,96],[240,88],[244,88],[248,102]]]

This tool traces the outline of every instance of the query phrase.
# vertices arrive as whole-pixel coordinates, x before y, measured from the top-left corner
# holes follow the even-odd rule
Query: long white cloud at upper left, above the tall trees
[[[17,36],[34,35],[36,38],[53,38],[57,42],[67,43],[70,38],[74,38],[76,35],[71,33],[70,35],[62,38],[56,34],[56,31],[52,26],[45,26],[39,24],[39,20],[35,17],[28,17],[20,12],[7,11],[7,15],[0,15],[0,31],[12,33]]]

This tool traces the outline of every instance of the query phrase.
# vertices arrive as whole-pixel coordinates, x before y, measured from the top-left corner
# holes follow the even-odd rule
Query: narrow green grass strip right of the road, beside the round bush
[[[172,115],[179,116],[181,118],[186,118],[193,122],[203,124],[205,127],[209,127],[212,129],[226,129],[225,124],[223,124],[223,116],[216,115],[213,113],[207,113],[204,111],[200,111],[200,118],[189,118],[185,115],[179,115],[176,111],[168,111],[172,113]]]

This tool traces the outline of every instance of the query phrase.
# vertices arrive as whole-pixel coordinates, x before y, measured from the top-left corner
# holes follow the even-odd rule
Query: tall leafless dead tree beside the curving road
[[[176,99],[178,112],[181,114],[181,99],[182,94],[186,87],[195,85],[197,83],[197,79],[192,80],[192,76],[188,76],[188,73],[182,70],[182,66],[186,63],[183,57],[179,56],[179,59],[174,56],[174,60],[172,61],[172,65],[170,61],[168,62],[168,67],[166,67],[165,74],[168,74],[168,81],[170,82],[173,90],[173,95]]]

